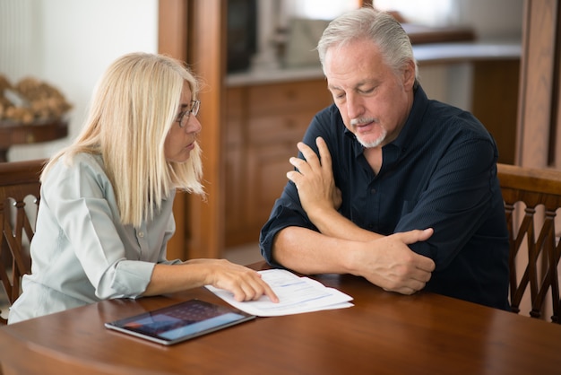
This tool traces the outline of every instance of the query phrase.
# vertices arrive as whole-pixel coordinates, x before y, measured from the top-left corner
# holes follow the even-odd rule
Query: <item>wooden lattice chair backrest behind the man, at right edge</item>
[[[561,171],[498,164],[510,233],[510,303],[520,312],[530,291],[530,316],[541,318],[551,297],[551,320],[560,321],[557,265],[561,245],[556,211],[561,207]],[[528,298],[528,297],[526,297]]]

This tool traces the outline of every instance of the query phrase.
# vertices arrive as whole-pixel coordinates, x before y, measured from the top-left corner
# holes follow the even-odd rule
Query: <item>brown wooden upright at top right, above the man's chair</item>
[[[516,163],[561,167],[559,0],[526,0]]]

